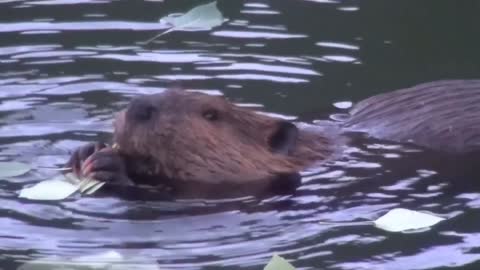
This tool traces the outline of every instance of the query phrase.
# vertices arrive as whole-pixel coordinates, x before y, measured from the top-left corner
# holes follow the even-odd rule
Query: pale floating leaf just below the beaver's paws
[[[63,200],[77,190],[78,186],[65,181],[64,176],[58,176],[22,189],[19,197],[30,200]]]

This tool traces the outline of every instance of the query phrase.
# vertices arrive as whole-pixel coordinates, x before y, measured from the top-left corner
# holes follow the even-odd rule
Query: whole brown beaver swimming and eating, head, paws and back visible
[[[424,83],[358,102],[343,121],[293,123],[221,96],[179,89],[134,98],[114,121],[113,146],[90,143],[67,165],[120,185],[271,186],[334,159],[347,132],[463,153],[480,148],[480,80]],[[288,178],[288,177],[287,177]]]

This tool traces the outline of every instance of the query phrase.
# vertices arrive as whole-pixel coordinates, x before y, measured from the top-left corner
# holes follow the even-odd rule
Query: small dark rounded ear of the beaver
[[[298,128],[288,121],[281,121],[268,139],[268,144],[272,152],[288,155],[295,149],[297,138]]]

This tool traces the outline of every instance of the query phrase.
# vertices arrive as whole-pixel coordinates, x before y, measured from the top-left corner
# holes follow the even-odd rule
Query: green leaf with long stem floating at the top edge
[[[197,6],[187,13],[180,16],[169,15],[160,19],[172,25],[172,28],[154,36],[144,42],[148,44],[158,37],[169,32],[179,30],[210,30],[215,26],[219,26],[224,22],[224,18],[220,10],[217,8],[217,1]]]

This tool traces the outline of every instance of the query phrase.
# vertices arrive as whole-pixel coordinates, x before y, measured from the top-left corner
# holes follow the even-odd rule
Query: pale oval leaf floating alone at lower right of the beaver
[[[395,208],[374,221],[377,228],[390,232],[420,230],[431,227],[445,218],[403,208]]]

